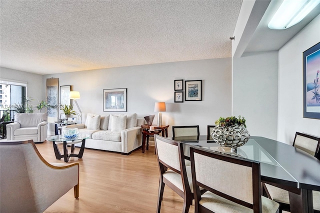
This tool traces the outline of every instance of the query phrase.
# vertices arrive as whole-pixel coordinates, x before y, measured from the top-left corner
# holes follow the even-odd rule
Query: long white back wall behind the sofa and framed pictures
[[[149,65],[96,69],[78,72],[43,75],[58,77],[59,85],[72,85],[79,91],[77,100],[82,110],[82,122],[88,112],[103,112],[102,90],[127,88],[127,113],[138,117],[154,112],[154,102],[165,101],[163,124],[199,125],[200,134],[206,134],[206,125],[213,124],[219,116],[231,115],[231,58],[169,62]],[[202,80],[202,101],[174,103],[174,79]],[[184,86],[183,86],[184,87]],[[76,106],[73,107],[76,109]],[[153,120],[156,123],[156,117]]]

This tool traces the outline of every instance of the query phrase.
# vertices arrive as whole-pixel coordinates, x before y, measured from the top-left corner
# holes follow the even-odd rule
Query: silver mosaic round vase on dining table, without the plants
[[[250,138],[248,130],[237,124],[228,127],[215,126],[211,136],[219,145],[233,148],[244,145]]]

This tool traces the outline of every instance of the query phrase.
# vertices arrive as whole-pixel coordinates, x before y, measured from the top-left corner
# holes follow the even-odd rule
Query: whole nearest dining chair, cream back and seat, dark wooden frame
[[[194,212],[278,212],[277,202],[261,196],[260,162],[196,147],[190,160]]]

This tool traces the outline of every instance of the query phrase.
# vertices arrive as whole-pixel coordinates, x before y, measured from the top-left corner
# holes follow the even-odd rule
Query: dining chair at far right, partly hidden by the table
[[[295,132],[292,146],[301,149],[320,160],[319,145],[320,137]],[[280,204],[280,212],[282,210],[290,211],[289,193],[287,190],[267,183],[262,183],[262,186],[266,195]],[[312,200],[313,211],[320,213],[320,191],[312,191]]]

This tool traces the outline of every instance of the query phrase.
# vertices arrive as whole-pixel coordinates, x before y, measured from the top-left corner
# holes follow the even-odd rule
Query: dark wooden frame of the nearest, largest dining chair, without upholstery
[[[196,179],[196,173],[195,173],[195,166],[194,166],[194,153],[203,154],[205,156],[213,157],[216,159],[220,159],[227,162],[232,162],[244,166],[248,166],[252,168],[252,186],[253,186],[253,204],[245,202],[243,200],[239,200],[235,197],[232,197],[230,195],[227,195],[223,192],[220,192],[218,190],[215,190],[211,187],[208,187]],[[262,204],[261,204],[261,176],[260,176],[260,162],[255,160],[249,160],[244,158],[238,158],[234,156],[227,156],[225,154],[213,152],[213,151],[207,151],[203,150],[201,148],[196,147],[190,147],[190,160],[191,160],[191,173],[192,173],[192,184],[193,184],[193,191],[194,191],[194,212],[212,212],[209,209],[203,207],[199,204],[199,201],[201,199],[201,193],[200,188],[202,187],[206,190],[211,191],[212,193],[215,193],[221,197],[224,197],[232,202],[241,204],[243,206],[246,206],[248,208],[253,209],[254,213],[262,212]]]

